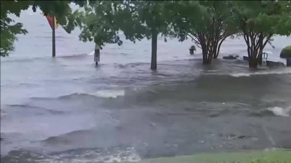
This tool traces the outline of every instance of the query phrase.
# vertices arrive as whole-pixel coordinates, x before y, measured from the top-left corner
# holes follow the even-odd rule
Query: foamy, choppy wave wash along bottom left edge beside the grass
[[[58,153],[39,153],[28,150],[11,151],[2,160],[14,162],[15,158],[22,158],[24,162],[139,162],[141,160],[133,147],[115,147],[111,149],[74,149]],[[2,162],[2,161],[1,161]]]

